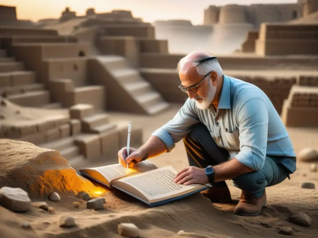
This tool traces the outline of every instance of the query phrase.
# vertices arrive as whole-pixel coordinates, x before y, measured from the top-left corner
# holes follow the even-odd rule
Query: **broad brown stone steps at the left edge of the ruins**
[[[24,63],[7,57],[6,50],[0,50],[0,93],[20,106],[51,106],[50,93],[44,84],[36,82],[35,72],[24,70]]]

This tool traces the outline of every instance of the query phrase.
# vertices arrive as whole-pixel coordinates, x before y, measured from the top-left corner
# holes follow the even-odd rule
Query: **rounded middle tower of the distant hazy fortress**
[[[240,5],[225,5],[220,8],[218,23],[248,23],[246,19],[246,7]]]

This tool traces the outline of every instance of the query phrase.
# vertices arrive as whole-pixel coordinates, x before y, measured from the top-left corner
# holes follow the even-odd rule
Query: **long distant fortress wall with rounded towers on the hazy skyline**
[[[249,23],[258,29],[263,22],[288,22],[302,17],[302,9],[302,3],[209,6],[204,10],[204,24]]]

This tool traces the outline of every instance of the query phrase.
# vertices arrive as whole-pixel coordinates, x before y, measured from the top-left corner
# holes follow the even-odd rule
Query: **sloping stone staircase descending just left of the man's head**
[[[132,107],[138,107],[139,111],[148,115],[155,115],[168,109],[169,103],[165,102],[152,85],[142,78],[137,69],[130,67],[125,57],[95,56],[94,59],[107,71],[108,78],[104,80],[107,84],[106,89],[113,90],[112,84],[116,84],[126,94],[125,98],[128,100],[125,100],[123,109],[129,109],[129,104],[132,104]]]

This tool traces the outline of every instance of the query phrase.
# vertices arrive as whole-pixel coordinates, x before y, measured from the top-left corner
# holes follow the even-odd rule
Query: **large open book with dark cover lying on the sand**
[[[171,202],[209,188],[209,184],[182,185],[173,182],[176,170],[171,166],[157,168],[142,161],[127,169],[121,164],[81,169],[79,175],[117,188],[149,206]]]

